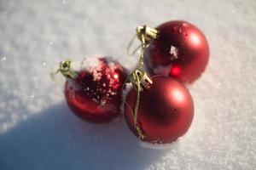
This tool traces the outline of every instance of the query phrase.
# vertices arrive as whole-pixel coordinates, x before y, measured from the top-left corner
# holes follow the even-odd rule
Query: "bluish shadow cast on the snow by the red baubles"
[[[168,150],[143,148],[119,122],[81,121],[62,102],[0,135],[0,169],[144,169]]]

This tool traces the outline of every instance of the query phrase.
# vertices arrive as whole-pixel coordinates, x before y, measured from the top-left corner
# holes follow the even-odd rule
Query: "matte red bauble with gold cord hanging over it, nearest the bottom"
[[[181,82],[171,78],[153,77],[153,84],[140,94],[137,126],[144,141],[170,143],[183,136],[194,116],[194,104],[189,90]],[[126,97],[125,119],[132,133],[139,137],[133,111],[137,91],[132,88]]]

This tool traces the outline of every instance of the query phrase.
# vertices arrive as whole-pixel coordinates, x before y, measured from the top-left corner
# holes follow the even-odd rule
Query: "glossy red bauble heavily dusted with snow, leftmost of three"
[[[110,58],[86,58],[71,65],[76,78],[69,77],[65,96],[71,110],[90,122],[109,122],[120,113],[122,84],[127,73]]]

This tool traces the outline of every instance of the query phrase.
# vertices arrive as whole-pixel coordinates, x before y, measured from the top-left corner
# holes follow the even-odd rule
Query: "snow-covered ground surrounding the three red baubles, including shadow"
[[[0,1],[0,169],[256,169],[256,1]],[[144,148],[122,116],[95,125],[69,111],[67,57],[126,67],[136,26],[188,20],[206,34],[207,71],[189,87],[195,119],[168,150]]]

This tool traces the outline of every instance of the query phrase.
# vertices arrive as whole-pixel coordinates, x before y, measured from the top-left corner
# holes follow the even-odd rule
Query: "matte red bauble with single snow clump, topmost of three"
[[[145,65],[151,75],[193,82],[205,71],[209,47],[203,33],[186,21],[168,21],[155,28],[158,37],[146,49]]]

